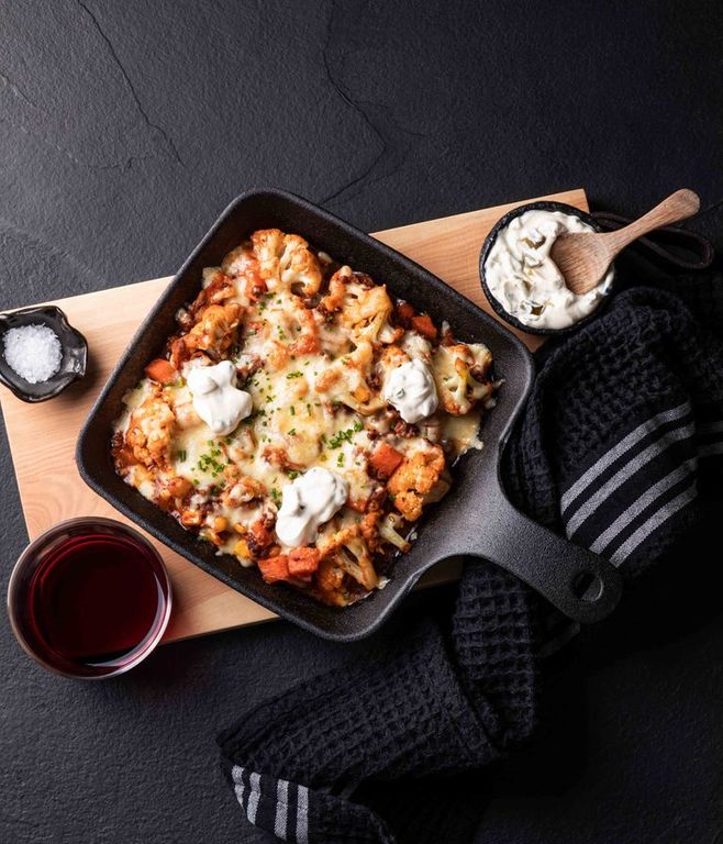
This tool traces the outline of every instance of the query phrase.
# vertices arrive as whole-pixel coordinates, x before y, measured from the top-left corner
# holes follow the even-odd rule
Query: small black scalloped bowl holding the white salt
[[[47,381],[30,384],[8,364],[4,356],[4,334],[22,325],[47,325],[60,341],[63,358],[60,368]],[[88,343],[82,334],[70,325],[67,316],[54,304],[23,308],[19,311],[0,313],[0,382],[14,392],[22,401],[47,401],[63,392],[86,374]]]

